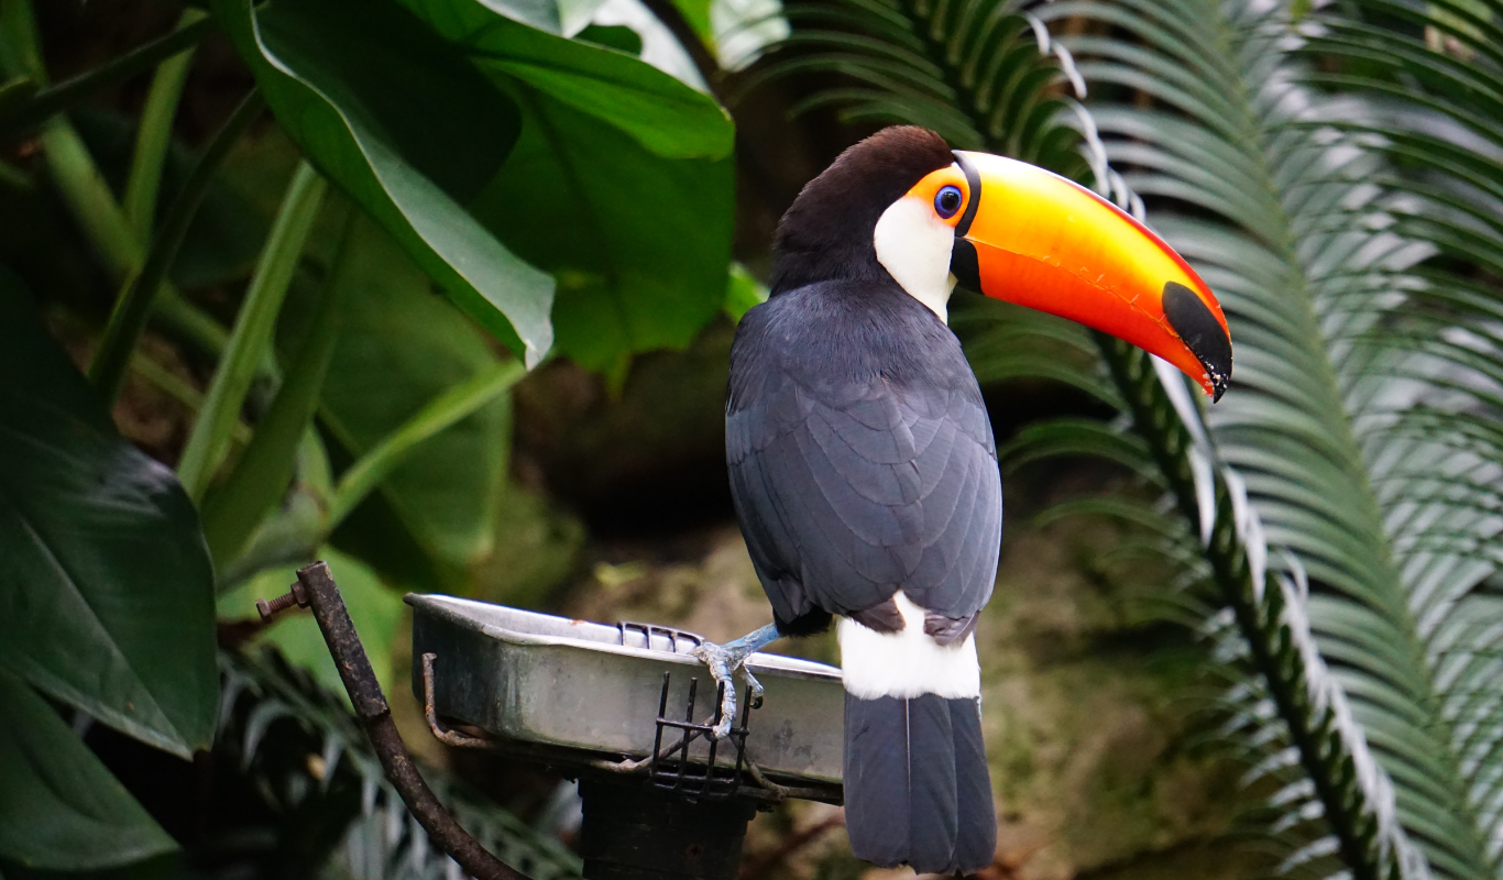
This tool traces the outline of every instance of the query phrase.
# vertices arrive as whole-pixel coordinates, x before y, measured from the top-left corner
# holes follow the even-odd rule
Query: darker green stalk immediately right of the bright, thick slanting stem
[[[245,455],[224,485],[204,502],[204,541],[209,542],[209,553],[219,571],[240,556],[256,527],[287,491],[298,445],[319,410],[323,378],[340,336],[338,300],[353,267],[352,242],[358,218],[359,213],[346,206],[338,249],[319,294],[308,335],[277,389],[277,398],[257,422]]]

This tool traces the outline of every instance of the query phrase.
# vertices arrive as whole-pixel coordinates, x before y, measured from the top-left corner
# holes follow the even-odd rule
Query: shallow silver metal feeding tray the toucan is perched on
[[[738,694],[730,739],[741,748],[730,748],[693,734],[714,722],[718,704],[709,670],[688,655],[697,635],[452,596],[409,595],[407,604],[413,608],[413,692],[430,701],[430,725],[445,742],[534,757],[561,769],[630,773],[645,772],[651,761],[654,778],[667,748],[681,761],[679,785],[684,767],[712,763],[697,778],[739,776],[745,769],[768,790],[789,785],[798,790],[785,794],[840,797],[845,689],[834,667],[752,655],[747,665],[767,692],[755,712],[745,707],[744,689]],[[445,731],[439,718],[485,736]]]

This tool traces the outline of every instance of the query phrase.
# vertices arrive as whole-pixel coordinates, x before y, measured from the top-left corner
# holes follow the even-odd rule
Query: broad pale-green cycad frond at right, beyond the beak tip
[[[1075,50],[1096,83],[1147,92],[1160,108],[1109,105],[1096,120],[1108,158],[1157,197],[1151,219],[1232,323],[1237,387],[1207,417],[1216,454],[1244,479],[1269,542],[1315,583],[1299,607],[1392,779],[1407,836],[1437,875],[1495,875],[1498,704],[1482,694],[1503,617],[1479,590],[1498,568],[1488,545],[1503,527],[1503,473],[1476,440],[1492,432],[1503,360],[1476,318],[1500,297],[1458,287],[1432,260],[1449,251],[1476,266],[1489,227],[1458,239],[1468,200],[1440,194],[1461,188],[1384,149],[1423,152],[1422,132],[1384,143],[1362,128],[1393,116],[1413,83],[1312,71],[1380,62],[1423,72],[1422,83],[1449,78],[1452,98],[1482,74],[1335,11],[1296,27],[1281,8],[1174,0],[1193,39],[1168,39],[1162,23],[1118,15],[1126,5],[1076,12],[1111,11],[1103,18],[1135,38],[1132,51],[1112,39]],[[1204,89],[1166,75],[1171,59],[1193,65]],[[1399,116],[1444,105],[1426,99]],[[1201,137],[1178,137],[1186,129]],[[1456,159],[1437,155],[1432,165]],[[1470,171],[1471,159],[1455,167]]]

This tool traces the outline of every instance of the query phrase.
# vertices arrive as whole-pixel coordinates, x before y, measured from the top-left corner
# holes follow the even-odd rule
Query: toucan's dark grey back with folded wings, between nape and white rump
[[[821,282],[736,330],[726,458],[780,623],[896,590],[968,620],[992,592],[1001,479],[960,344],[891,279]]]

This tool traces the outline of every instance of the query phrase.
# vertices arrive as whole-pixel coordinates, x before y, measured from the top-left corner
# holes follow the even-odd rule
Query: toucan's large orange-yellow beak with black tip
[[[948,180],[963,189],[950,260],[962,285],[1111,333],[1220,399],[1231,378],[1226,317],[1172,248],[1064,177],[987,153],[954,156],[929,177],[963,177]]]

